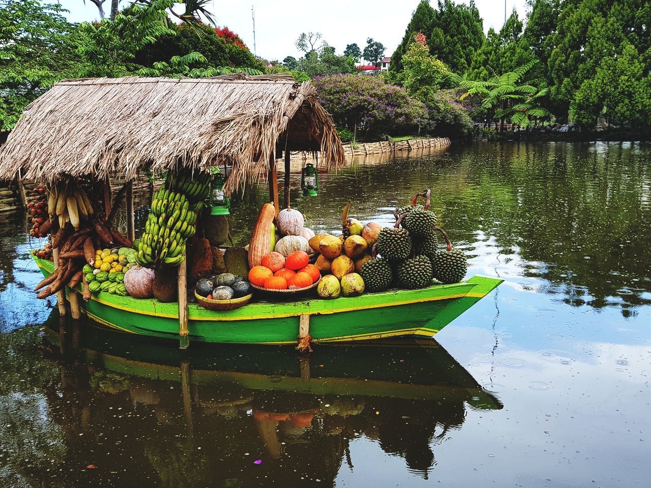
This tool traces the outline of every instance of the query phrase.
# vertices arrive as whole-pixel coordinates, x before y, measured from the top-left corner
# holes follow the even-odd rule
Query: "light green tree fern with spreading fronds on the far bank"
[[[549,88],[541,90],[527,83],[518,84],[537,62],[538,60],[529,61],[511,72],[495,76],[488,81],[473,81],[456,74],[450,74],[449,79],[467,89],[461,96],[461,100],[469,96],[482,97],[482,108],[489,115],[493,114],[493,119],[501,120],[501,131],[504,130],[507,116],[510,116],[512,124],[528,127],[534,123],[534,120],[549,115],[547,109],[538,105],[540,98],[549,93]]]

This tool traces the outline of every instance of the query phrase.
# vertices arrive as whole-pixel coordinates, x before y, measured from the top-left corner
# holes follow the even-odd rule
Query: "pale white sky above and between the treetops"
[[[48,0],[44,0],[48,1]],[[56,0],[49,0],[54,2]],[[461,1],[461,0],[457,0]],[[68,19],[74,22],[97,20],[97,7],[89,0],[60,0],[70,10]],[[251,6],[255,7],[256,52],[269,60],[282,61],[284,57],[299,55],[294,41],[301,32],[320,32],[328,44],[341,54],[346,44],[357,42],[363,50],[367,37],[380,41],[390,56],[404,35],[411,13],[419,0],[212,0],[212,12],[217,23],[227,26],[253,51],[253,22]],[[468,1],[465,1],[468,3]],[[489,27],[499,30],[504,23],[503,0],[476,0],[484,19],[484,31]],[[104,10],[109,12],[111,0],[106,0]],[[120,6],[128,5],[122,0]],[[436,5],[436,0],[432,0]],[[517,8],[520,18],[525,15],[525,0],[506,0],[507,14]],[[179,12],[182,6],[177,8]]]

